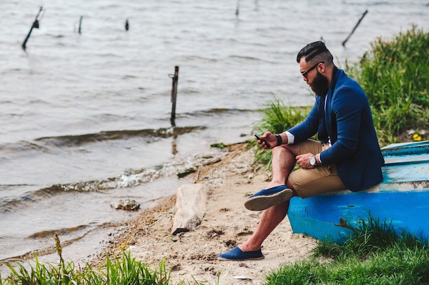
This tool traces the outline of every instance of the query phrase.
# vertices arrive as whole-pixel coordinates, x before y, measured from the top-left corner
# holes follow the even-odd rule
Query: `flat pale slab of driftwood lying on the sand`
[[[206,213],[208,189],[202,184],[182,185],[176,194],[177,209],[171,234],[188,232],[201,223]]]

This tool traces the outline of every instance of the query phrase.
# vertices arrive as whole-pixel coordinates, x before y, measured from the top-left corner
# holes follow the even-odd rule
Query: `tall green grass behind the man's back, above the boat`
[[[378,38],[347,74],[363,87],[382,144],[399,141],[409,129],[429,127],[429,33],[412,29]]]

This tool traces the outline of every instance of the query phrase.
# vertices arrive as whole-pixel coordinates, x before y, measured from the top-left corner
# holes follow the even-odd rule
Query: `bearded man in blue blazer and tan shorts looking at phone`
[[[361,191],[382,181],[382,157],[371,109],[362,87],[336,68],[326,45],[312,42],[297,55],[304,81],[316,94],[306,119],[280,134],[264,133],[262,148],[272,151],[272,180],[245,201],[263,211],[258,227],[245,243],[220,260],[264,258],[262,242],[286,217],[292,196],[349,189]],[[309,138],[317,133],[319,141]],[[300,167],[293,170],[295,164]]]

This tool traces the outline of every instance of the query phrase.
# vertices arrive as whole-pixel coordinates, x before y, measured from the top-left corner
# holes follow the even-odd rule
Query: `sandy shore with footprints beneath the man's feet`
[[[197,183],[209,189],[206,213],[195,230],[173,236],[175,196],[166,198],[155,208],[143,211],[113,236],[94,264],[106,260],[106,254],[130,250],[132,257],[150,268],[158,268],[166,260],[172,268],[173,284],[262,284],[266,273],[282,264],[306,258],[316,245],[315,239],[293,234],[289,220],[284,219],[263,245],[264,260],[220,261],[217,256],[242,243],[256,228],[260,212],[247,211],[244,200],[262,189],[270,173],[262,165],[252,165],[253,150],[247,144],[228,147],[218,163],[201,167],[193,175]],[[217,283],[217,273],[220,273]],[[237,279],[238,276],[245,280]]]

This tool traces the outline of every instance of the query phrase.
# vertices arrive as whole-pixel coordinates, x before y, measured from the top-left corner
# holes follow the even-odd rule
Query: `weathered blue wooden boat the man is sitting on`
[[[360,192],[349,190],[306,199],[294,197],[289,221],[294,233],[343,243],[350,228],[369,215],[400,232],[429,237],[429,141],[391,144],[381,149],[384,180]]]

